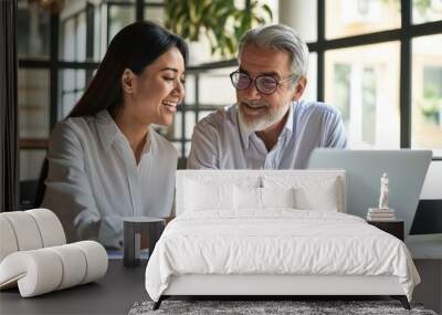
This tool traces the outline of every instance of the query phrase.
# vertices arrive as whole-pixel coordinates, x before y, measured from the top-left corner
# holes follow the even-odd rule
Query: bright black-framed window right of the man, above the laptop
[[[317,99],[339,109],[349,147],[427,148],[442,158],[442,1],[318,0],[309,8],[318,19],[299,29],[317,29],[307,34]]]

